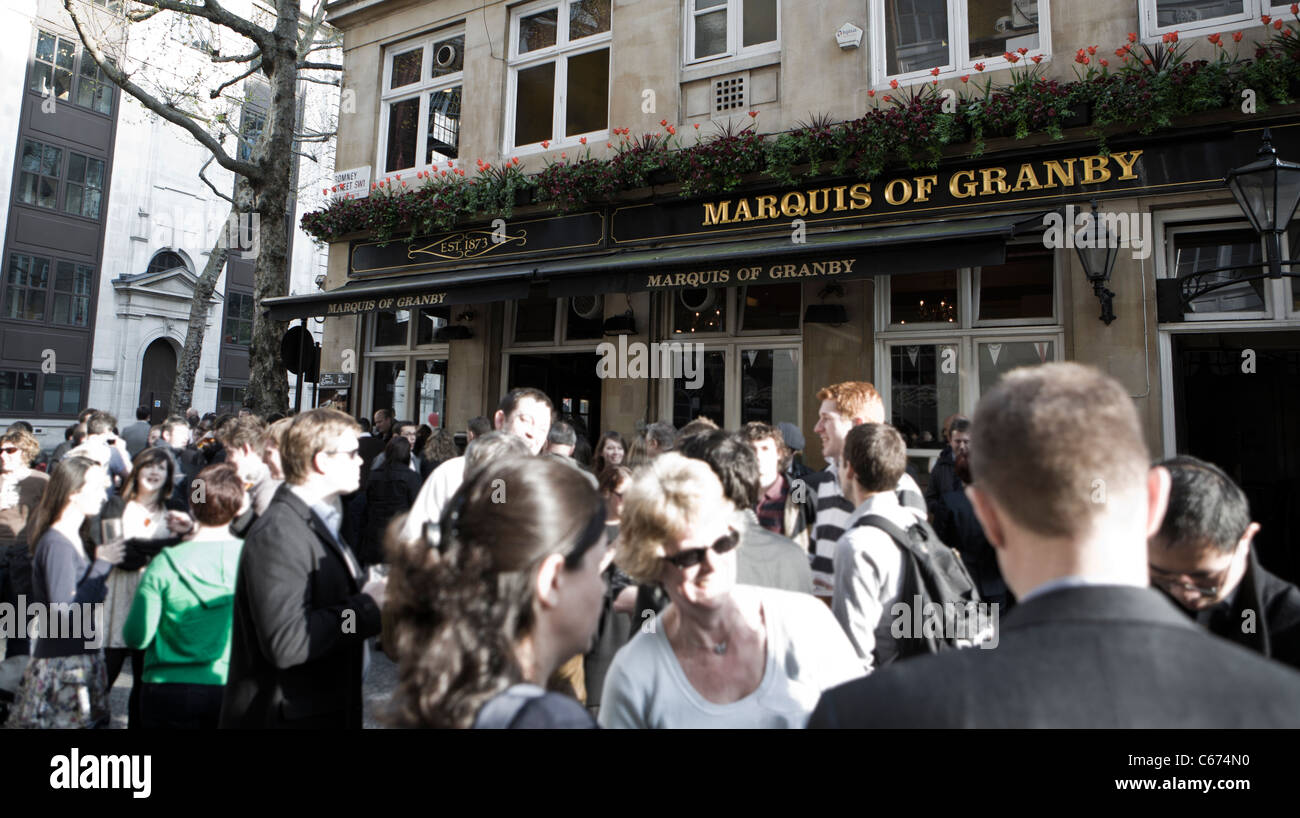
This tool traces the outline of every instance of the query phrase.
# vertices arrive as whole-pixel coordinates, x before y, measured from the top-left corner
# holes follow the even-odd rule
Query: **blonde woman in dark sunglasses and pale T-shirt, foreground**
[[[614,657],[602,727],[802,728],[862,675],[811,594],[736,584],[737,512],[702,460],[662,454],[624,492],[616,562],[671,605]]]

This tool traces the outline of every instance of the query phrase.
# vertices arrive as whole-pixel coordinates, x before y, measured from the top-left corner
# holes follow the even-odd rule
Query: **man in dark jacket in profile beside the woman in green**
[[[339,497],[360,481],[360,427],[303,412],[280,447],[285,485],[244,540],[221,727],[359,728],[365,640],[385,581],[365,581],[339,536]]]

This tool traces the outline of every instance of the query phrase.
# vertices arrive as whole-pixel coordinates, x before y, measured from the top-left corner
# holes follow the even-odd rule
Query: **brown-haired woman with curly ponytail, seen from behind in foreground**
[[[422,538],[390,549],[394,720],[595,727],[582,705],[542,685],[595,632],[608,563],[604,518],[601,495],[573,467],[502,460],[452,495],[436,545]]]

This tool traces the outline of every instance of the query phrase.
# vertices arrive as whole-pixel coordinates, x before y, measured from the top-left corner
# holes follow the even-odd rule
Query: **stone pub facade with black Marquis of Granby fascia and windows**
[[[1018,48],[1066,81],[1080,47],[1130,31],[1158,47],[1173,30],[1156,1],[1041,0],[992,22],[974,0],[937,22],[923,4],[816,5],[338,0],[356,107],[339,117],[337,165],[382,185],[474,160],[540,172],[606,155],[620,127],[671,125],[686,144],[715,124],[777,134],[810,112],[852,120],[909,83],[962,88],[976,62],[998,79]],[[918,34],[939,22],[952,36]],[[1266,36],[1244,17],[1184,30],[1232,27]],[[1295,577],[1300,290],[1252,277],[1265,242],[1223,179],[1265,129],[1300,160],[1297,125],[1300,107],[1243,107],[1112,129],[1104,146],[1079,126],[953,144],[936,166],[871,178],[754,174],[689,196],[664,179],[567,212],[525,202],[450,230],[359,230],[330,237],[325,293],[265,307],[325,319],[321,371],[354,415],[391,406],[462,430],[528,385],[593,441],[655,420],[790,421],[818,466],[818,389],[870,380],[922,473],[942,420],[1002,373],[1088,363],[1128,388],[1154,455],[1196,454],[1243,484],[1261,558]],[[1104,280],[1080,252],[1102,233]]]

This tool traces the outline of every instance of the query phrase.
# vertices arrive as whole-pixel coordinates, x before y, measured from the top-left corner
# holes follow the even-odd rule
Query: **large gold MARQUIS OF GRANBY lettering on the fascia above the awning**
[[[1136,150],[1109,156],[1071,156],[1069,159],[1023,163],[1018,166],[989,165],[972,170],[956,170],[949,174],[946,187],[953,199],[985,199],[1026,191],[1062,190],[1076,185],[1104,185],[1112,181],[1132,182],[1139,178],[1135,166],[1141,155],[1143,151]],[[931,194],[936,189],[942,190],[944,185],[937,174],[930,174],[887,179],[876,190],[884,192],[884,202],[888,207],[906,207],[932,202]],[[874,202],[870,182],[792,190],[781,195],[766,194],[705,202],[703,226],[794,218],[820,215],[827,211],[832,213],[864,211],[871,208]],[[784,267],[780,269],[781,276],[788,277]],[[662,276],[651,278],[662,278]],[[664,284],[662,286],[682,285]]]

